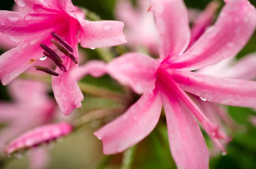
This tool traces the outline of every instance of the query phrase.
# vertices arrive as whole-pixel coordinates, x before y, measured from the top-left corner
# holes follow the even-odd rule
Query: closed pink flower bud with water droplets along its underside
[[[61,136],[69,135],[73,130],[73,126],[66,122],[57,124],[49,124],[32,129],[23,133],[19,137],[12,140],[7,146],[6,154],[38,146],[42,143],[49,143]]]

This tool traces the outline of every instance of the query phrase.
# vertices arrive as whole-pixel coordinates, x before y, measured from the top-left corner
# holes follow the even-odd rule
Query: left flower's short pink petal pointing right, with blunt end
[[[81,46],[84,48],[100,48],[126,43],[122,32],[124,23],[119,21],[79,20],[81,25]]]

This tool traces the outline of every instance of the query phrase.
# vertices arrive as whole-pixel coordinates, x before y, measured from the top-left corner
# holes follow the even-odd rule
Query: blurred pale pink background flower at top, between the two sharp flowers
[[[120,0],[116,4],[116,18],[125,23],[124,34],[127,45],[136,50],[147,47],[150,52],[157,54],[157,34],[152,13],[148,13],[151,0],[138,0],[135,9],[128,0]]]

